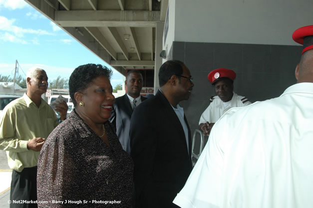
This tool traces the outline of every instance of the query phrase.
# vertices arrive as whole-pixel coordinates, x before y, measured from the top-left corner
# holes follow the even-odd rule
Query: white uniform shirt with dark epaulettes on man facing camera
[[[211,103],[209,107],[202,113],[200,117],[199,125],[206,122],[215,123],[229,109],[233,107],[243,107],[251,104],[251,102],[246,97],[237,95],[235,92],[233,92],[233,97],[229,101],[230,104],[227,105],[226,108],[224,107],[224,102],[221,100],[221,98],[219,98],[219,96],[211,97],[210,101]]]

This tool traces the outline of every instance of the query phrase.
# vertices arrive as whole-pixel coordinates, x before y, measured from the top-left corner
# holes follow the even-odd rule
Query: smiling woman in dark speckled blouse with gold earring
[[[95,64],[78,66],[71,74],[69,93],[75,109],[41,149],[38,200],[81,200],[86,207],[94,207],[88,205],[94,200],[115,200],[120,203],[114,207],[132,207],[132,160],[108,122],[115,102],[110,76],[111,70]]]

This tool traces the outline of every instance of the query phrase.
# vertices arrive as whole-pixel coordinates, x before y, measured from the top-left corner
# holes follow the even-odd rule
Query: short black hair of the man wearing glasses
[[[179,60],[169,60],[162,64],[159,70],[159,84],[162,87],[173,75],[182,75],[185,64]],[[180,77],[178,77],[180,80]]]

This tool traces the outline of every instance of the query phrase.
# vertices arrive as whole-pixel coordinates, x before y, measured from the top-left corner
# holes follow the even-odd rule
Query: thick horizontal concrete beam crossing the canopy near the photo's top
[[[160,11],[72,10],[55,11],[54,20],[63,27],[155,27]]]

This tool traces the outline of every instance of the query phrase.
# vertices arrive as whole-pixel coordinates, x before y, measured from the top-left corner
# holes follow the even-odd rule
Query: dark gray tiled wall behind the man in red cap
[[[234,91],[251,102],[262,101],[280,96],[296,83],[301,52],[302,46],[174,41],[169,58],[186,63],[195,83],[190,99],[180,103],[192,133],[209,98],[215,96],[207,78],[210,71],[221,67],[234,70]]]

